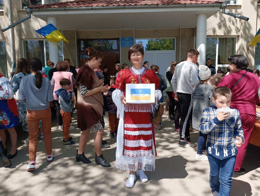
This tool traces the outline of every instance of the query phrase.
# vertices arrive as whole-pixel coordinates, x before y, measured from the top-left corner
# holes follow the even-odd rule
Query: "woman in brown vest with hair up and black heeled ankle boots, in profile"
[[[101,151],[104,129],[100,122],[103,113],[103,97],[101,92],[107,92],[108,88],[100,85],[99,78],[93,71],[94,68],[99,69],[102,55],[94,48],[86,48],[85,52],[88,57],[87,63],[80,67],[76,78],[77,91],[78,95],[80,95],[77,97],[77,121],[78,128],[82,130],[76,161],[91,163],[84,155],[84,149],[90,132],[95,132],[95,162],[102,167],[110,167],[110,163],[106,161]]]

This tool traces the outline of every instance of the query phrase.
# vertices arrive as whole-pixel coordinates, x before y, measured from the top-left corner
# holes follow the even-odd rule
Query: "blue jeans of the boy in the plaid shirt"
[[[217,191],[219,196],[228,196],[231,191],[232,173],[234,170],[236,156],[220,160],[209,153],[210,163],[210,187]]]

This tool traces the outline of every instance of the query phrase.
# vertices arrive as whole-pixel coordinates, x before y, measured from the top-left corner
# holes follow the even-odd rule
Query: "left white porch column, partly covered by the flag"
[[[53,24],[54,27],[57,28],[57,18],[55,17],[47,17],[47,24]],[[50,61],[54,62],[56,66],[57,62],[59,61],[59,48],[58,42],[50,42],[49,41],[49,54],[50,54]],[[47,59],[48,61],[49,59]]]

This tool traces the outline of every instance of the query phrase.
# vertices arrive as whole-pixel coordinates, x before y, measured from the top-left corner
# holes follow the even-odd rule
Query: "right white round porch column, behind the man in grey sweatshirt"
[[[197,15],[197,38],[196,47],[199,51],[198,63],[205,65],[206,63],[206,37],[207,37],[207,15]]]

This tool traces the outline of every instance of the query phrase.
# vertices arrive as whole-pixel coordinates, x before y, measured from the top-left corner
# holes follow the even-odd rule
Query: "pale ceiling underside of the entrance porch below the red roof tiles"
[[[33,15],[46,21],[57,18],[57,28],[62,30],[102,29],[172,29],[191,28],[197,25],[197,15],[211,17],[219,6],[152,7],[113,9],[31,9]]]

